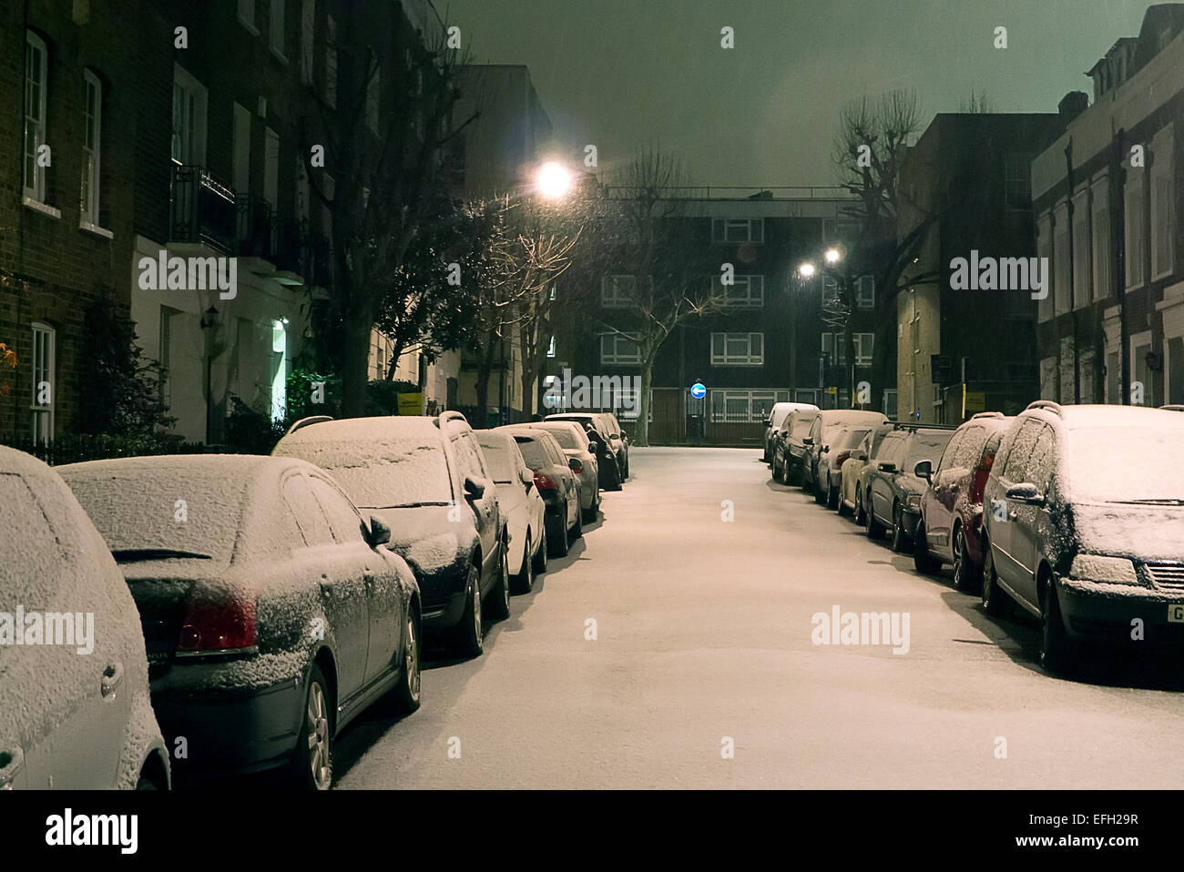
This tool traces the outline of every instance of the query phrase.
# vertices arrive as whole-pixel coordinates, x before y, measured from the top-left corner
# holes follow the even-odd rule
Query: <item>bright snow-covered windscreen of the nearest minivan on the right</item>
[[[1067,439],[1068,495],[1087,503],[1184,500],[1184,429],[1090,427]]]

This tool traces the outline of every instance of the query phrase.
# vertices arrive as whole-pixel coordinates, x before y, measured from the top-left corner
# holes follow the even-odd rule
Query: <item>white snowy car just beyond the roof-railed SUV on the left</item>
[[[476,434],[509,528],[511,587],[515,593],[529,593],[534,574],[547,571],[547,506],[534,486],[534,471],[522,459],[514,437],[489,429],[478,429]]]

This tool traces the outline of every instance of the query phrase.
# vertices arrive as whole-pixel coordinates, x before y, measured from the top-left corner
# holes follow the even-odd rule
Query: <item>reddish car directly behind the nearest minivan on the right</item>
[[[929,483],[921,496],[913,562],[927,575],[953,564],[955,590],[977,592],[983,577],[983,489],[1011,420],[1000,412],[979,412],[954,432],[937,469],[921,460],[913,470]]]

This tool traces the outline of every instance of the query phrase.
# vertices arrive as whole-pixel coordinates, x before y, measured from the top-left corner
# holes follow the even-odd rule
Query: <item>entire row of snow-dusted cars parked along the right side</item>
[[[919,573],[952,567],[987,614],[1032,615],[1041,665],[1072,674],[1093,647],[1184,645],[1180,411],[1038,400],[958,427],[794,411],[768,457]]]

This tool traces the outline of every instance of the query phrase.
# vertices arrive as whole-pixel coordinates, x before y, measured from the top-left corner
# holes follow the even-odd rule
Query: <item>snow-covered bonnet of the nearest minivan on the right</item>
[[[1074,503],[1069,511],[1081,550],[1138,560],[1184,562],[1184,506]]]

